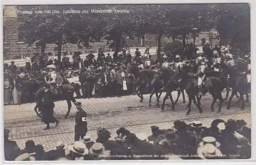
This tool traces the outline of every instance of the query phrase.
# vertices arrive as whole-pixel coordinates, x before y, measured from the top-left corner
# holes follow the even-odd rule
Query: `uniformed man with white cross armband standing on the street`
[[[87,113],[83,110],[81,102],[76,102],[77,112],[75,115],[75,141],[79,141],[87,133]]]

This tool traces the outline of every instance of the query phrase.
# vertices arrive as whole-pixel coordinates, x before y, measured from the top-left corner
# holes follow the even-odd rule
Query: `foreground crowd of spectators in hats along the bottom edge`
[[[175,121],[174,127],[151,126],[152,134],[133,133],[124,127],[111,133],[97,129],[94,141],[84,134],[81,141],[70,146],[57,142],[56,148],[45,151],[28,140],[24,149],[8,139],[5,129],[5,158],[15,161],[32,160],[132,160],[132,159],[247,159],[251,156],[251,129],[244,120],[221,119],[210,127],[202,122]],[[111,137],[113,137],[111,139]]]

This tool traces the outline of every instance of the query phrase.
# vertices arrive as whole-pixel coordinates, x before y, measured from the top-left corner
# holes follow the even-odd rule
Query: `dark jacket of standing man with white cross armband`
[[[87,114],[83,109],[76,112],[75,121],[75,129],[80,133],[87,133]]]

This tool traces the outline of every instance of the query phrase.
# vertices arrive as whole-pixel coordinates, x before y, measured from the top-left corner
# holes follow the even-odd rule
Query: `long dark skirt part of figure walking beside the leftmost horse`
[[[40,110],[42,113],[42,122],[45,124],[55,123],[56,118],[53,116],[53,106],[41,105]]]

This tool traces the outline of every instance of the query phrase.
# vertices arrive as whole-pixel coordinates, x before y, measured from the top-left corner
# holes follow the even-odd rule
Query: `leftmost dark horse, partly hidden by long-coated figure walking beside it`
[[[65,100],[67,100],[67,103],[68,103],[68,112],[65,115],[65,119],[67,119],[69,116],[69,113],[70,113],[70,109],[72,107],[71,101],[73,103],[76,102],[76,100],[74,98],[75,89],[72,85],[69,84],[67,78],[63,75],[63,73],[57,76],[56,82],[61,82],[60,88],[57,88],[57,96],[59,98],[63,98]],[[45,83],[41,88],[39,88],[35,94],[36,105],[34,107],[34,111],[37,116],[40,116],[39,113],[37,112],[38,102],[40,99],[42,99],[41,93],[44,92],[46,88],[49,88],[49,85],[47,83]]]

